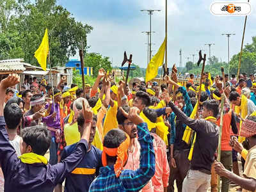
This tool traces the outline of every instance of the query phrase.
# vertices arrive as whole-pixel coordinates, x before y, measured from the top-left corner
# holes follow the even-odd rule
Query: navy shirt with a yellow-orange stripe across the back
[[[77,143],[74,143],[65,147],[61,159],[70,156],[76,150],[76,146]],[[65,192],[86,192],[89,190],[90,184],[99,174],[99,168],[102,166],[101,154],[101,150],[91,145],[91,150],[85,154],[82,161],[71,173],[68,173],[65,181]]]

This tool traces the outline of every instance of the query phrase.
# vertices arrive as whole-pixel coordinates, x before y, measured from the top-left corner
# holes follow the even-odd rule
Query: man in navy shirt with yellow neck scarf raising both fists
[[[81,141],[77,143],[76,150],[61,163],[51,166],[44,157],[51,145],[51,136],[47,129],[40,126],[24,129],[20,151],[22,155],[18,158],[15,149],[8,141],[3,118],[4,93],[6,88],[17,83],[19,76],[15,74],[9,75],[0,83],[0,95],[2,95],[0,97],[0,163],[5,180],[4,191],[53,191],[56,184],[76,168],[87,152],[92,111],[84,109],[86,124],[83,126]],[[21,114],[19,106],[13,105],[13,108],[17,111],[17,115]],[[17,118],[15,124],[19,122],[20,119]]]

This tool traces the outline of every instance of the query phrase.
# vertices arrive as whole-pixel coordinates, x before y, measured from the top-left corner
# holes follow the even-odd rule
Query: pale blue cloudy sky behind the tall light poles
[[[226,0],[225,0],[226,1]],[[230,58],[241,49],[244,17],[220,17],[210,13],[213,0],[168,0],[168,66],[179,66],[179,49],[182,64],[193,61],[191,54],[198,49],[209,54],[205,44],[214,43],[211,56],[227,61],[227,37],[221,33],[236,33],[230,37]],[[227,1],[228,2],[228,1]],[[233,1],[234,2],[234,1]],[[247,2],[244,0],[238,2]],[[58,0],[76,20],[93,26],[88,36],[89,52],[99,52],[120,66],[124,51],[132,54],[132,60],[140,67],[147,67],[147,36],[141,31],[149,30],[149,15],[140,10],[161,10],[152,15],[153,54],[159,49],[165,33],[164,0]],[[252,13],[248,16],[244,44],[256,36],[256,2],[252,1]],[[254,25],[253,25],[254,24]]]

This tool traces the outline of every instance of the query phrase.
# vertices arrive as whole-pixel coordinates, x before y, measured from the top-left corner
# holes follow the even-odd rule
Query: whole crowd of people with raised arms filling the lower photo
[[[101,68],[84,89],[66,81],[0,82],[0,191],[217,191],[218,175],[223,192],[256,190],[253,75],[182,86],[173,67],[129,88]]]

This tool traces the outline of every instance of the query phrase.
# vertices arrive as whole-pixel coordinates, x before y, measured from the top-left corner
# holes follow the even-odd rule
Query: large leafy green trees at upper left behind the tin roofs
[[[48,29],[52,67],[76,54],[92,27],[77,22],[56,0],[0,0],[0,59],[24,58],[38,65],[34,52]],[[3,45],[3,46],[2,46]]]

